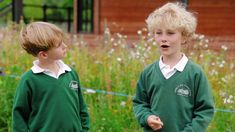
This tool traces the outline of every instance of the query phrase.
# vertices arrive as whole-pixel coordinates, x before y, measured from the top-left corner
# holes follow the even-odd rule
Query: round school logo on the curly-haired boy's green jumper
[[[185,84],[180,84],[175,88],[175,93],[180,96],[190,97],[191,96],[191,90],[190,88]]]

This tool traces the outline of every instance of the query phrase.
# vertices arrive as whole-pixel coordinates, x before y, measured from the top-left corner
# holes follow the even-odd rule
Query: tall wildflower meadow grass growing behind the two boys
[[[7,75],[22,75],[32,66],[33,57],[19,46],[19,25],[0,29],[0,67]],[[64,61],[79,73],[84,88],[130,95],[117,96],[84,90],[91,117],[91,131],[142,131],[133,112],[131,96],[143,68],[159,58],[156,43],[146,29],[139,39],[128,42],[128,36],[105,33],[90,48],[78,36],[70,35],[70,50]],[[226,47],[221,52],[208,49],[208,40],[197,36],[193,48],[185,48],[187,56],[199,63],[213,88],[216,108],[235,110],[234,62],[226,62]],[[12,102],[19,78],[0,77],[0,131],[11,130]],[[217,111],[207,131],[234,131],[235,114]]]

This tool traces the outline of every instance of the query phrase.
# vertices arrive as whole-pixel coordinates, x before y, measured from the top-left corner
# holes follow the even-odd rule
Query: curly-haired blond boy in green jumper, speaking
[[[145,131],[205,131],[214,114],[211,88],[202,68],[181,52],[195,32],[195,16],[181,3],[167,3],[146,22],[161,56],[137,83],[133,107],[138,122]]]

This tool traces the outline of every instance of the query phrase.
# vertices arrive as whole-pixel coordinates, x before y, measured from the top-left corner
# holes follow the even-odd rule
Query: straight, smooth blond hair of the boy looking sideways
[[[60,28],[47,22],[32,22],[20,32],[22,48],[33,56],[58,46],[64,37]]]

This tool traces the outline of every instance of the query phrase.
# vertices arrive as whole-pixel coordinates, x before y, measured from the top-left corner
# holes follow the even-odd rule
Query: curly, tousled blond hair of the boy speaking
[[[183,3],[167,3],[153,11],[146,19],[150,33],[158,27],[179,29],[182,35],[191,38],[197,27],[197,19],[193,13],[186,10]]]

